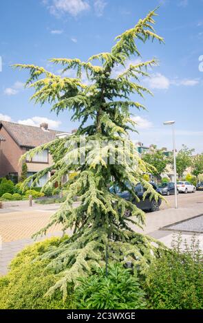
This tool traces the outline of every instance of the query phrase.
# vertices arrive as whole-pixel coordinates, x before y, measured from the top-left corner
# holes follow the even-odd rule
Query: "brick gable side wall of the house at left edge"
[[[1,142],[0,177],[5,177],[9,172],[19,173],[21,170],[19,158],[21,157],[23,150],[14,142],[3,126],[0,129],[0,134],[6,139],[5,142]]]

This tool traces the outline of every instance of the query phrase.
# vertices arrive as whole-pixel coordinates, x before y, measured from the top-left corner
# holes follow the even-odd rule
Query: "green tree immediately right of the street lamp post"
[[[186,168],[192,166],[193,152],[194,149],[189,149],[186,145],[182,145],[182,149],[176,155],[176,168],[180,178],[182,178]],[[173,165],[173,159],[171,159],[171,164]]]

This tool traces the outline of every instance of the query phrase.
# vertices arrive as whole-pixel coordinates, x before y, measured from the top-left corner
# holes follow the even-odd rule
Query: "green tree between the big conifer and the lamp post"
[[[142,155],[142,160],[153,166],[151,174],[157,179],[160,179],[160,175],[164,172],[169,162],[162,149],[157,149],[156,146],[153,146],[150,153]]]

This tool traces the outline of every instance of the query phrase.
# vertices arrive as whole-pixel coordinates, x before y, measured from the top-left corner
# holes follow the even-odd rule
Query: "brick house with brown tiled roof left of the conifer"
[[[14,122],[0,121],[0,177],[8,177],[14,183],[21,177],[22,164],[19,159],[26,151],[51,142],[61,135],[70,135],[48,129],[48,124],[43,123],[38,126],[27,126]],[[28,176],[39,170],[52,166],[52,156],[48,151],[36,154],[32,160],[25,161],[28,166]],[[47,181],[52,173],[42,177],[39,187]]]

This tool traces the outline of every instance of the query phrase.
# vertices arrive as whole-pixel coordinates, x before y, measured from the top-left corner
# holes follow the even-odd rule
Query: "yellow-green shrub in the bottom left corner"
[[[59,243],[59,238],[35,243],[12,260],[10,272],[0,278],[0,309],[74,309],[72,285],[65,302],[61,291],[56,291],[52,298],[45,297],[58,277],[47,269],[48,260],[36,258]]]

